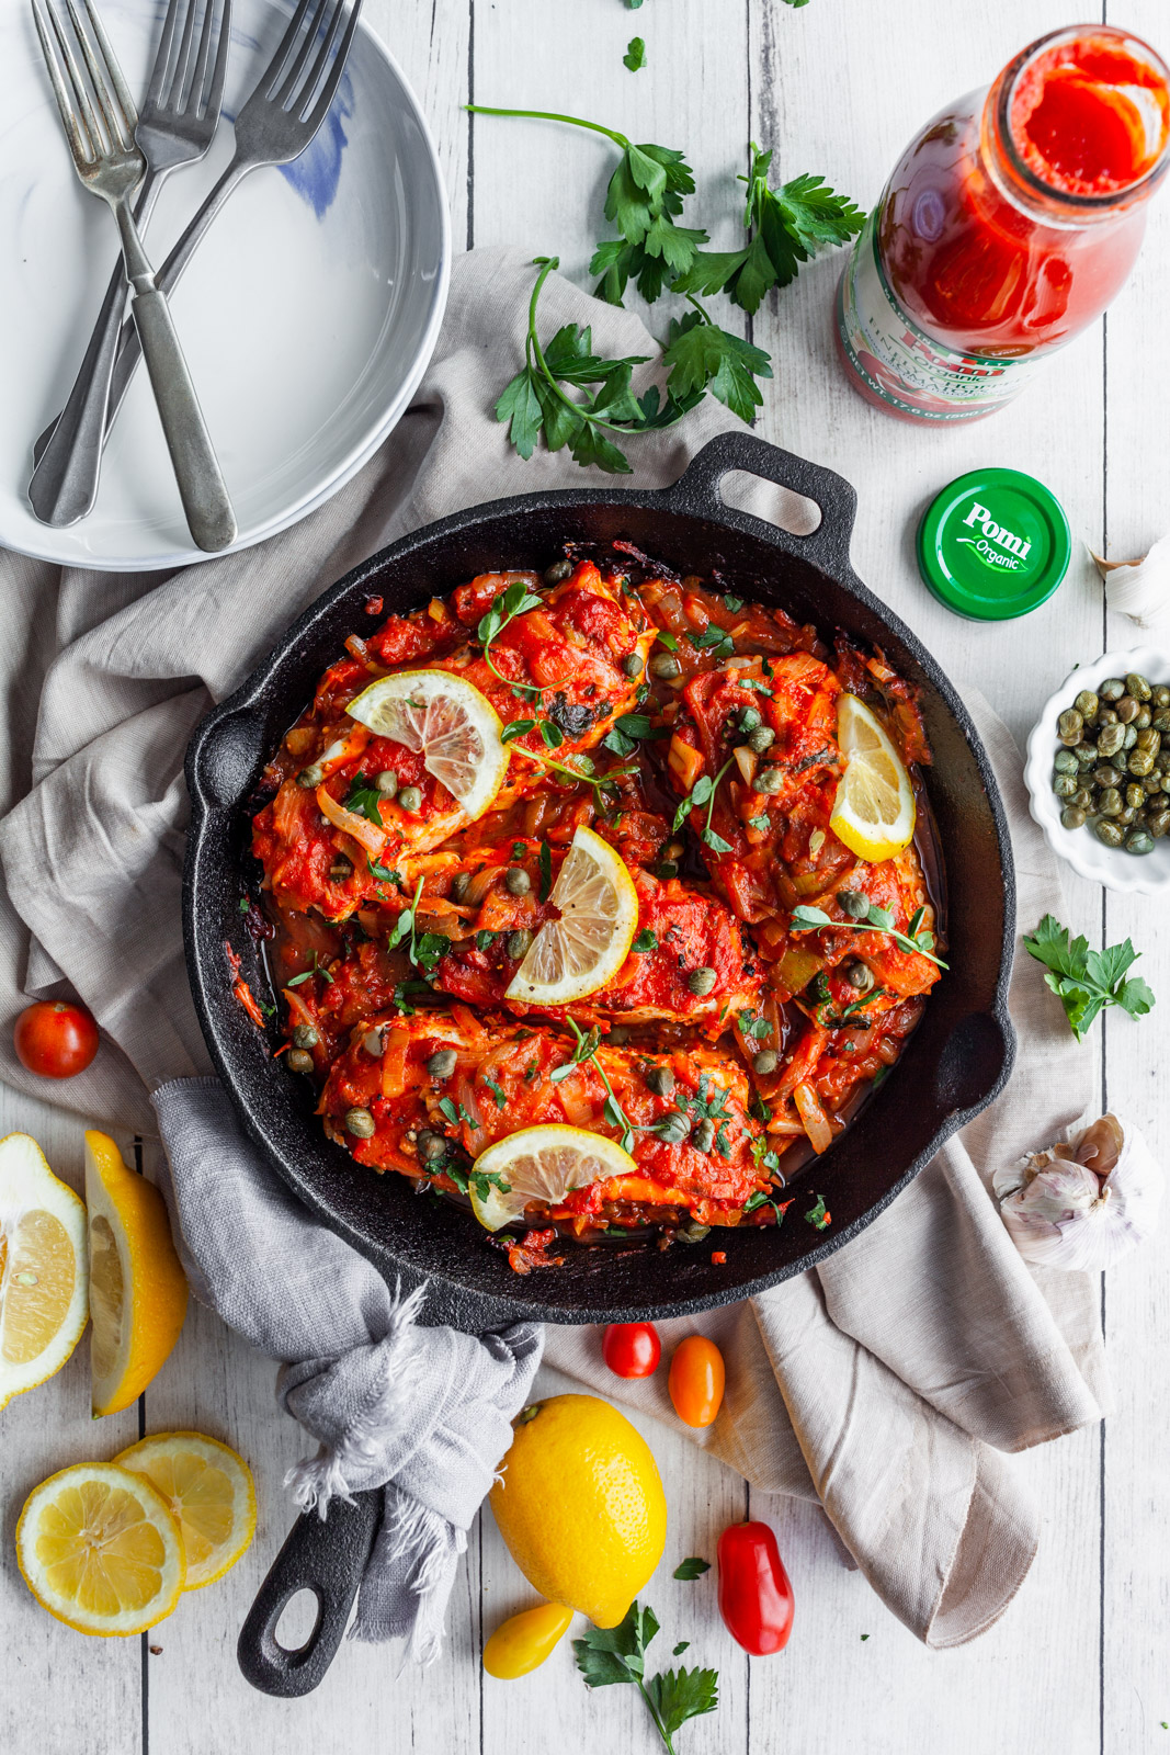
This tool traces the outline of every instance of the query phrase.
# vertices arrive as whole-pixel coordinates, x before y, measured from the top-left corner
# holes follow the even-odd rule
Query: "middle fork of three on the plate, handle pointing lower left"
[[[203,158],[219,123],[232,0],[223,0],[221,7],[216,0],[205,0],[198,42],[196,12],[198,0],[170,0],[151,84],[139,112],[135,140],[146,156],[146,177],[133,218],[140,228],[151,216],[165,177],[179,165]],[[74,525],[93,511],[111,376],[125,312],[126,276],[119,261],[68,402],[33,446],[37,467],[28,484],[28,500],[46,525]]]

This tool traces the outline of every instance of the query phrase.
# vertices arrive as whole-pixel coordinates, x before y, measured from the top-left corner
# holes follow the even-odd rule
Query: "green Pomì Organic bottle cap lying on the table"
[[[1054,493],[1017,469],[974,469],[917,526],[923,579],[960,616],[1009,621],[1044,604],[1068,572],[1072,534]]]

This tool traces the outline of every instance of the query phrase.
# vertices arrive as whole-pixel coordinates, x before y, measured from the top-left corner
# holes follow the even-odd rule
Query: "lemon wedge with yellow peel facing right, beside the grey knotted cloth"
[[[86,1134],[86,1206],[93,1413],[116,1415],[167,1364],[188,1313],[188,1283],[163,1197],[96,1130]]]

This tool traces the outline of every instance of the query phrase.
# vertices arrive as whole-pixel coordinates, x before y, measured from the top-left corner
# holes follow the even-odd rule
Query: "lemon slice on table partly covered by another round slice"
[[[223,1578],[256,1534],[256,1483],[242,1457],[202,1432],[156,1432],[114,1457],[154,1486],[182,1532],[186,1590]]]

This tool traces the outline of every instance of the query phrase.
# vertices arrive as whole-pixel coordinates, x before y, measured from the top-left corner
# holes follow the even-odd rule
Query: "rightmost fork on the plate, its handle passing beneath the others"
[[[160,291],[174,291],[203,232],[249,170],[258,170],[261,165],[288,165],[312,142],[346,70],[360,12],[361,0],[300,0],[275,54],[256,81],[256,90],[235,118],[232,163],[154,276]],[[335,44],[337,54],[330,63]],[[125,323],[111,386],[107,433],[118,418],[139,355],[139,337],[133,326]]]

